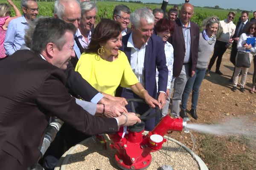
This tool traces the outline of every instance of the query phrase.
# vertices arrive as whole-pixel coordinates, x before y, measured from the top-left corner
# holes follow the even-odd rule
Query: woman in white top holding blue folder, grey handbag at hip
[[[231,88],[232,91],[236,91],[237,89],[236,86],[238,83],[240,71],[242,71],[240,91],[243,93],[245,91],[244,85],[246,82],[247,72],[250,68],[250,63],[253,59],[253,55],[256,53],[255,42],[254,42],[254,45],[252,42],[249,42],[249,40],[252,40],[251,39],[252,37],[256,37],[256,23],[250,23],[250,25],[247,27],[246,32],[241,34],[241,36],[239,37],[239,41],[237,43],[238,53],[236,55],[236,68],[233,76],[233,88]],[[247,38],[248,38],[248,42],[247,42]],[[249,63],[248,62],[246,63],[246,59],[245,59],[246,57],[248,58]]]

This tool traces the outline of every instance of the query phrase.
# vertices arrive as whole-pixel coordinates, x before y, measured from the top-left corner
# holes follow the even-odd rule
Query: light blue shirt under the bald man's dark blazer
[[[184,57],[184,64],[189,63],[190,60],[190,46],[191,46],[191,36],[190,36],[190,22],[187,27],[182,24],[182,31],[183,31],[183,37],[185,42],[185,57]]]

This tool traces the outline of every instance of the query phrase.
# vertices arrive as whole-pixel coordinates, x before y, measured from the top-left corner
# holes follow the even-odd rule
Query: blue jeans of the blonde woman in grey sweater
[[[195,75],[193,77],[189,77],[186,82],[185,89],[182,95],[181,108],[185,110],[187,108],[187,103],[189,99],[189,94],[191,90],[192,92],[192,109],[196,109],[198,104],[198,96],[199,96],[199,88],[204,79],[206,68],[196,68]]]

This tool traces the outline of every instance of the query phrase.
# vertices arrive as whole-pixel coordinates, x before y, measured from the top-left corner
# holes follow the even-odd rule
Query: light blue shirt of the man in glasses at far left
[[[10,21],[4,40],[6,55],[12,55],[15,51],[20,49],[22,44],[25,44],[24,35],[26,28],[28,28],[28,25],[24,16],[17,17]]]

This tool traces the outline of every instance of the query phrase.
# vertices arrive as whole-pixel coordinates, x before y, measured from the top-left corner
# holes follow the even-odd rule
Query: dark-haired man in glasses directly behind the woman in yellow
[[[131,32],[131,28],[128,27],[130,23],[130,14],[131,10],[126,5],[120,4],[114,8],[113,19],[120,23],[122,28],[122,36]]]

